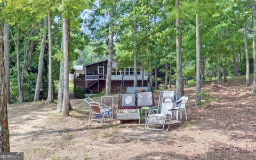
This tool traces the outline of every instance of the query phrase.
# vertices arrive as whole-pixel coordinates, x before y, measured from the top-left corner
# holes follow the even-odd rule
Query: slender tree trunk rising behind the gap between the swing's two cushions
[[[137,0],[134,0],[134,9],[136,10]],[[134,80],[133,86],[137,86],[137,22],[134,20]]]

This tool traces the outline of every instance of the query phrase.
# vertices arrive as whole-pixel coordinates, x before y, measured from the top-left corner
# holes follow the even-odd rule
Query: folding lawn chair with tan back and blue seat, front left
[[[110,123],[112,124],[112,118],[110,115],[110,111],[108,109],[103,109],[100,106],[100,103],[98,102],[90,102],[90,109],[92,117],[90,119],[89,125],[91,125],[91,122],[94,121],[100,121],[100,126],[102,126],[102,122],[105,123],[105,117],[110,117]]]

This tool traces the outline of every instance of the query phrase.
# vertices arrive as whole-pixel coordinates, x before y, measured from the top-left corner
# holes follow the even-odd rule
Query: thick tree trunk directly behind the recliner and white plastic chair
[[[179,12],[179,0],[175,0],[175,10]],[[176,88],[179,97],[182,97],[184,94],[183,91],[183,78],[182,78],[182,56],[181,56],[181,43],[182,43],[182,33],[181,33],[181,22],[179,17],[175,20],[175,26],[178,28],[178,34],[176,35],[176,53],[177,53],[177,79],[176,79]]]

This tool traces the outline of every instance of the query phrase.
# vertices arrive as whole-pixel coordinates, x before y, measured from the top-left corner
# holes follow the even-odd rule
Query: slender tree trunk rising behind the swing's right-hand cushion
[[[147,0],[146,2],[146,7],[147,7],[147,56],[148,56],[148,72],[149,72],[149,81],[150,84],[153,85],[153,81],[152,81],[152,63],[151,63],[151,56],[150,56],[150,39],[149,39],[149,32],[150,32],[150,28],[149,28],[149,2]]]

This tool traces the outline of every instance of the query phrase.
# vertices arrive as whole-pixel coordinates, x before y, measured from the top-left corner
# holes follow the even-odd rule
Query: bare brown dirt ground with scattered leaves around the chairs
[[[221,86],[203,84],[218,99],[206,109],[195,106],[195,86],[186,87],[188,121],[183,116],[168,132],[137,121],[89,126],[82,99],[70,101],[75,111],[64,118],[56,104],[9,105],[11,151],[23,151],[25,159],[256,159],[256,96],[241,78]]]

